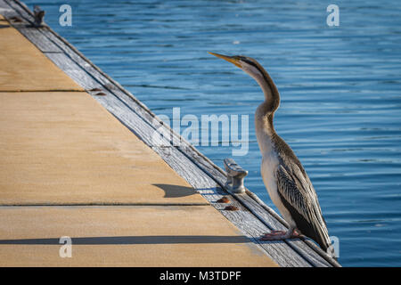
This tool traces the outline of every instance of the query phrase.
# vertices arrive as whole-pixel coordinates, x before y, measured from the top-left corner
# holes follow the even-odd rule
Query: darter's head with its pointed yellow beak
[[[233,65],[239,67],[240,69],[248,73],[250,77],[255,78],[257,81],[258,79],[263,78],[264,74],[266,73],[266,70],[263,69],[263,67],[258,63],[258,61],[248,56],[243,56],[243,55],[228,56],[219,53],[210,53],[210,54],[217,56],[218,58],[223,59],[225,61],[233,63]]]

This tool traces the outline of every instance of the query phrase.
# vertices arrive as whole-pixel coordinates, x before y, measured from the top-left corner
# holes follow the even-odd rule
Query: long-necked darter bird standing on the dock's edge
[[[274,131],[274,111],[280,105],[280,94],[273,79],[258,61],[250,57],[210,54],[229,61],[248,73],[265,94],[265,102],[258,106],[255,113],[256,134],[262,153],[261,174],[270,198],[290,228],[287,232],[266,233],[261,240],[291,239],[302,233],[315,240],[333,257],[329,232],[314,186],[291,147]]]

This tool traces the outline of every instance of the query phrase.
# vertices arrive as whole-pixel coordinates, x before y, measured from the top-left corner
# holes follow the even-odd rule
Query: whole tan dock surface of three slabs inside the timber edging
[[[0,50],[0,266],[277,266],[3,16]]]

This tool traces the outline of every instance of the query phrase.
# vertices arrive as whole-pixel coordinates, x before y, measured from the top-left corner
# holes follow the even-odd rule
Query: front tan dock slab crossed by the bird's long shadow
[[[0,207],[0,213],[0,266],[275,265],[210,206]],[[66,235],[72,258],[58,254],[58,237]]]

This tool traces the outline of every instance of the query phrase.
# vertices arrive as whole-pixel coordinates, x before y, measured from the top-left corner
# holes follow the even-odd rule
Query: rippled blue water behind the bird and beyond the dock
[[[315,185],[345,266],[401,265],[401,10],[397,1],[26,1],[157,114],[250,116],[246,185],[260,177],[258,85],[207,51],[252,56],[274,78],[278,134]],[[72,6],[72,27],[58,23]],[[220,167],[232,147],[199,147]],[[275,208],[274,208],[275,209]]]

